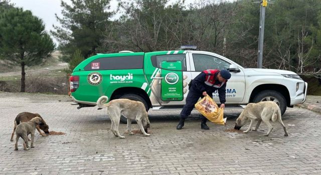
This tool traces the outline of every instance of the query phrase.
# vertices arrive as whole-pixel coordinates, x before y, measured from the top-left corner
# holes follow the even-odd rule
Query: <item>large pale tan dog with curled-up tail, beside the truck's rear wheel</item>
[[[141,132],[145,136],[150,134],[146,133],[147,128],[149,128],[150,123],[148,120],[148,115],[145,106],[140,101],[134,101],[130,99],[113,99],[107,104],[104,104],[108,100],[107,96],[101,96],[97,100],[97,105],[100,108],[108,107],[107,113],[111,120],[111,131],[115,136],[120,138],[125,138],[120,135],[118,131],[120,116],[124,115],[127,117],[127,129],[130,135],[134,134],[131,132],[131,120],[136,120]]]

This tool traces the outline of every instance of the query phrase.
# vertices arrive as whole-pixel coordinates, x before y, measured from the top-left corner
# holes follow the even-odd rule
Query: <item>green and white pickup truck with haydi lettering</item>
[[[144,103],[146,110],[182,109],[188,82],[205,69],[226,69],[232,74],[226,86],[226,108],[243,108],[258,101],[286,107],[304,102],[307,83],[292,71],[244,68],[236,62],[195,47],[179,50],[97,54],[75,67],[70,77],[72,99],[78,108],[109,100],[128,98]],[[213,99],[219,103],[218,93]],[[126,122],[125,117],[121,121]]]

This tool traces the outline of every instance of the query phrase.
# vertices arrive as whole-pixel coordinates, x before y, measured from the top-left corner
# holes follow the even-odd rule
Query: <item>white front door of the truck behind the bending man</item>
[[[192,78],[195,78],[206,69],[228,69],[231,64],[227,58],[217,55],[204,54],[200,52],[190,52],[190,64]],[[226,84],[226,103],[241,103],[245,94],[245,76],[242,69],[240,72],[231,72],[232,76]],[[218,92],[213,93],[213,99],[220,103]]]

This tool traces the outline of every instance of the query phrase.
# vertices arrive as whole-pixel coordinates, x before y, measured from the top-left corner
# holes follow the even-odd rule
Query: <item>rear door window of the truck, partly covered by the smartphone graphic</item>
[[[186,56],[185,54],[164,54],[151,56],[151,63],[154,67],[162,68],[162,61],[182,61],[182,70],[186,71]]]

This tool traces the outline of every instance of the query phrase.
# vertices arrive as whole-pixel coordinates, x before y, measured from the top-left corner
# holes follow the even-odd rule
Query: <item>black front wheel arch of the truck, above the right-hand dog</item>
[[[254,97],[261,91],[263,90],[275,90],[277,92],[280,92],[285,100],[286,100],[286,105],[290,107],[290,94],[286,86],[281,85],[281,84],[260,84],[256,86],[251,93],[250,100],[249,102],[253,102]]]

